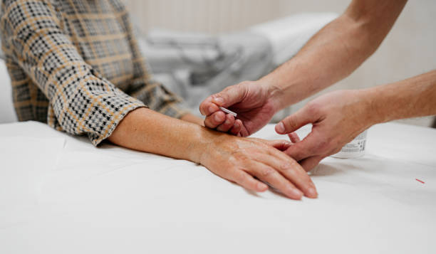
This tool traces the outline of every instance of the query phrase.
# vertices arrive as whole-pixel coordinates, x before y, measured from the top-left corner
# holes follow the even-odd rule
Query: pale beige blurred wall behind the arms
[[[341,14],[349,0],[125,0],[142,33],[152,28],[212,34],[241,31],[303,12]],[[351,76],[324,90],[368,88],[436,68],[436,1],[408,1],[378,51]],[[322,92],[321,92],[322,93]],[[316,95],[315,95],[316,96]],[[310,100],[310,98],[308,99]],[[306,101],[291,107],[295,111]],[[401,120],[429,126],[432,117]]]

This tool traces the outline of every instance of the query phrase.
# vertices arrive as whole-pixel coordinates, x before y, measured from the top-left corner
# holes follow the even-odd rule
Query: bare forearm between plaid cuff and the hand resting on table
[[[214,135],[200,125],[139,108],[125,116],[108,139],[122,147],[199,162]]]

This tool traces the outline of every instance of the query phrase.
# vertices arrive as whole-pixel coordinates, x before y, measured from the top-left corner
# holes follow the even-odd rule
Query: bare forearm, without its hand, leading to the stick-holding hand
[[[405,0],[355,0],[299,53],[261,81],[283,108],[346,78],[383,41]]]

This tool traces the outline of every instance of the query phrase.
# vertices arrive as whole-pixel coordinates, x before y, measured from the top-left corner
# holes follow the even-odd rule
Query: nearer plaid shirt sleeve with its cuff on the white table
[[[3,1],[2,5],[5,53],[46,95],[48,118],[52,112],[61,129],[88,134],[97,145],[128,112],[145,107],[85,63],[48,1]]]

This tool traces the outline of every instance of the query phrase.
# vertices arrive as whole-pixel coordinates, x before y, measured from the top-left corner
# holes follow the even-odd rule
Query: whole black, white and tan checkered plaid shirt
[[[137,107],[187,113],[151,80],[119,0],[4,0],[0,18],[20,121],[88,134],[97,145]]]

